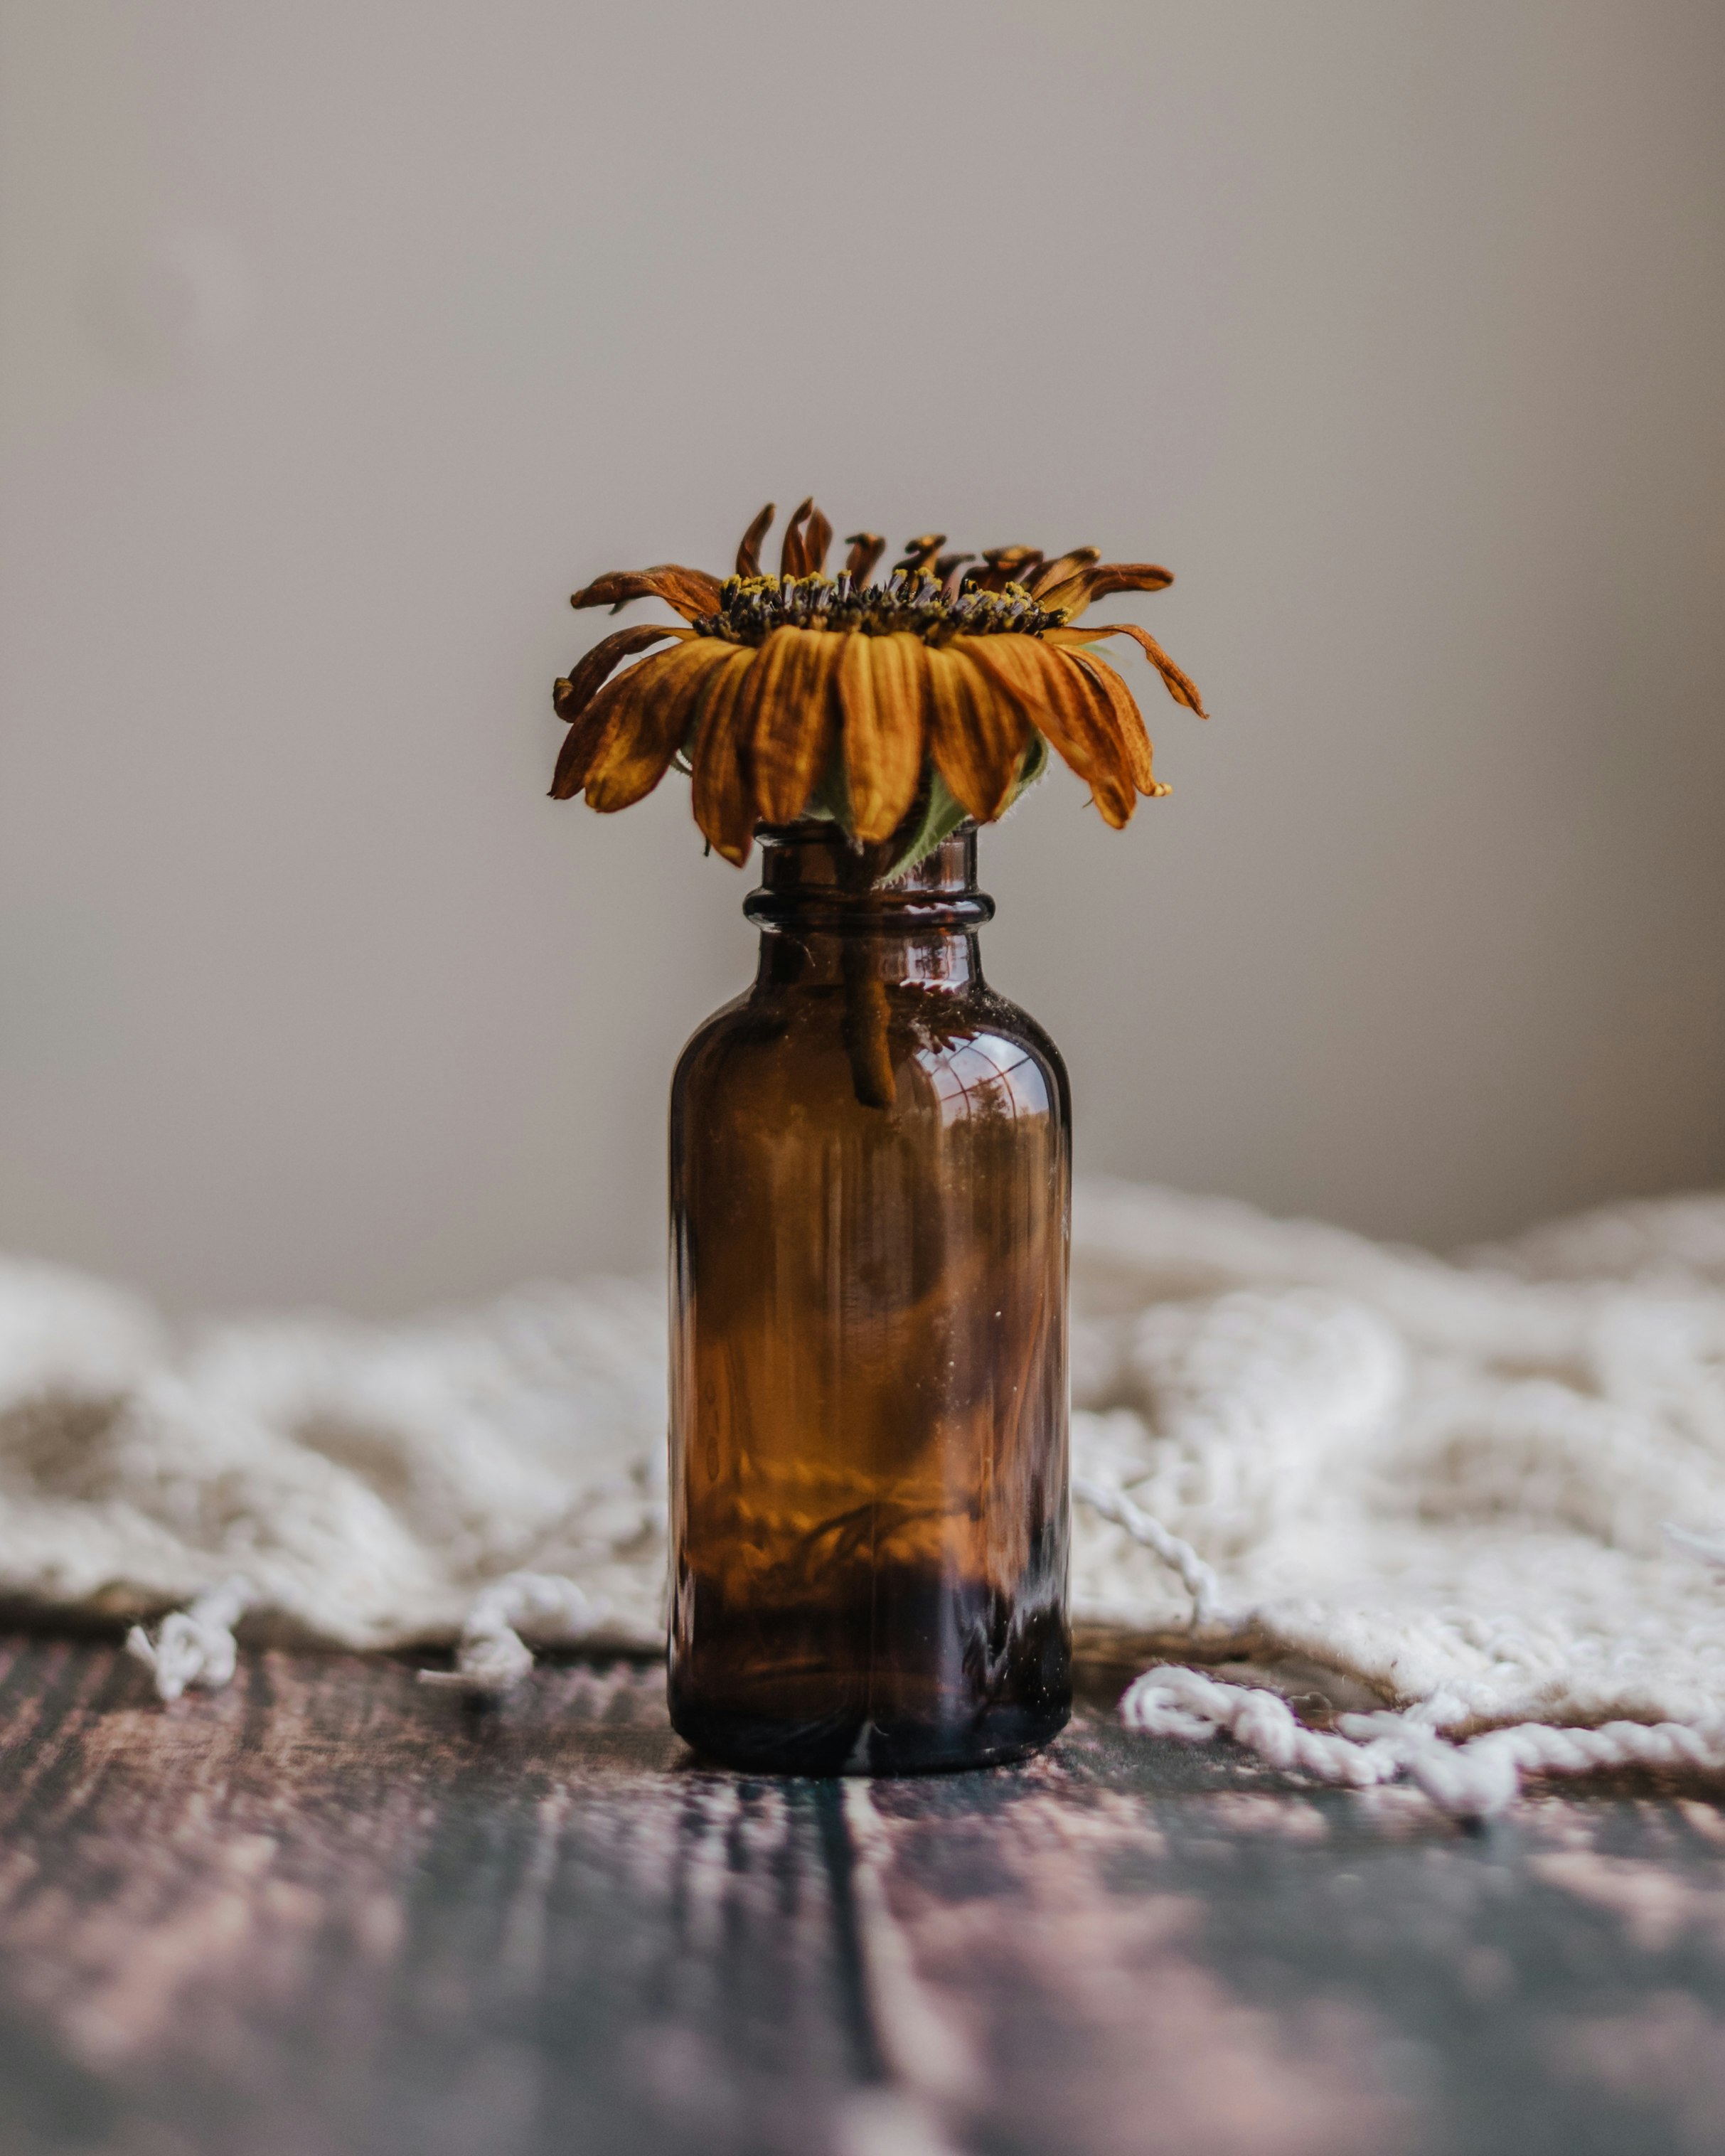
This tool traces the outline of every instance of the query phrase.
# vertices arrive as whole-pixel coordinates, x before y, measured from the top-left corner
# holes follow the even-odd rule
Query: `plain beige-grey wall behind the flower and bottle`
[[[0,1244],[653,1263],[748,880],[543,798],[565,597],[811,487],[1179,573],[1173,800],[985,843],[1080,1166],[1438,1244],[1725,1171],[1716,0],[6,0],[0,69]]]

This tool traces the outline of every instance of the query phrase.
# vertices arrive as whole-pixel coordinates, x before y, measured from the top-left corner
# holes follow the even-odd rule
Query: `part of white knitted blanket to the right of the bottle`
[[[1074,1460],[1216,1572],[1078,1511],[1078,1608],[1203,1660],[1315,1662],[1436,1727],[1708,1723],[1725,1613],[1725,1197],[1466,1263],[1098,1186]]]

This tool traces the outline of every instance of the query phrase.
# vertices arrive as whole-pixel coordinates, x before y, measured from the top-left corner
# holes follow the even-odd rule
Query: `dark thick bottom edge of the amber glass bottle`
[[[1003,1705],[957,1723],[880,1725],[847,1708],[819,1720],[785,1720],[729,1708],[671,1701],[671,1727],[703,1759],[744,1774],[957,1774],[1007,1766],[1050,1744],[1072,1703]]]

